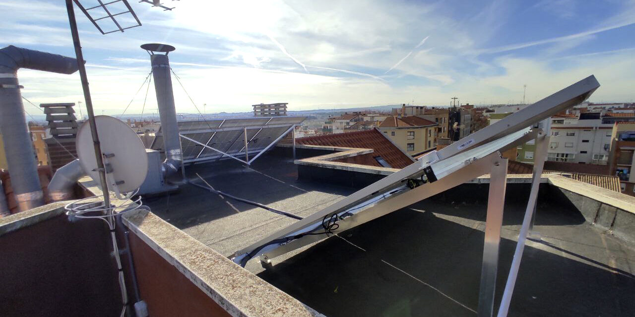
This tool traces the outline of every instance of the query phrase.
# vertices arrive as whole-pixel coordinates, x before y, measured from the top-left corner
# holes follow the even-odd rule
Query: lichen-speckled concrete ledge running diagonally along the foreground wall
[[[323,316],[147,210],[123,221],[232,316]]]

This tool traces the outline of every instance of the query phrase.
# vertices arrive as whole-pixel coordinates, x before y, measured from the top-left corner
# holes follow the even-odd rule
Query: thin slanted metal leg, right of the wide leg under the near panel
[[[548,130],[547,130],[548,131]],[[536,138],[536,152],[534,155],[533,164],[533,178],[531,179],[531,191],[529,193],[529,201],[527,202],[527,209],[525,210],[525,218],[523,219],[523,226],[518,234],[518,243],[516,244],[516,251],[514,252],[514,260],[512,266],[509,269],[509,276],[507,276],[507,283],[505,283],[505,291],[503,297],[500,300],[500,309],[498,309],[498,317],[507,316],[509,311],[509,303],[514,294],[514,285],[516,285],[516,277],[518,276],[518,268],[520,267],[520,261],[523,258],[523,250],[525,250],[525,241],[527,233],[529,232],[529,226],[531,223],[531,216],[533,215],[533,209],[536,205],[538,198],[538,187],[540,186],[540,178],[542,177],[542,167],[547,157],[547,145],[549,144],[549,134],[541,132]]]

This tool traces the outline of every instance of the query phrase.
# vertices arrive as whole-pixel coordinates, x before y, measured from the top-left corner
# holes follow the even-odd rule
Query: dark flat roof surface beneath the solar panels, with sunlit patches
[[[217,190],[299,216],[356,191],[298,180],[291,157],[271,152],[251,167],[220,160],[185,171],[192,181],[199,173]],[[275,258],[272,269],[265,270],[258,261],[246,268],[330,317],[474,316],[486,202],[464,203],[464,196],[433,197],[392,212]],[[539,201],[535,229],[542,241],[527,242],[510,316],[635,316],[633,245],[585,221],[571,205]],[[144,202],[154,214],[224,256],[296,221],[191,184]],[[504,212],[496,303],[525,205],[509,201]]]

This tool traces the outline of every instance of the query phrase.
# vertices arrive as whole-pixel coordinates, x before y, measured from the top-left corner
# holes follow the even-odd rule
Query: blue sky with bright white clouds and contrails
[[[175,9],[131,1],[142,27],[105,36],[77,10],[97,113],[133,98],[150,71],[146,42],[176,46],[172,67],[208,113],[511,103],[523,84],[532,102],[591,74],[602,85],[591,101],[635,100],[635,1],[165,2]],[[0,45],[74,56],[63,3],[0,0]],[[83,100],[77,74],[19,76],[34,103]],[[174,84],[177,111],[196,112]],[[156,111],[152,90],[127,113]]]

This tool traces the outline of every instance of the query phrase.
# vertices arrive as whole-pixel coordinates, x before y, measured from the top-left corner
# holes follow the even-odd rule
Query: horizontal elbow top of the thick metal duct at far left
[[[60,74],[77,72],[77,60],[67,56],[18,48],[10,45],[0,49],[0,73],[17,72],[18,68],[29,68]]]

